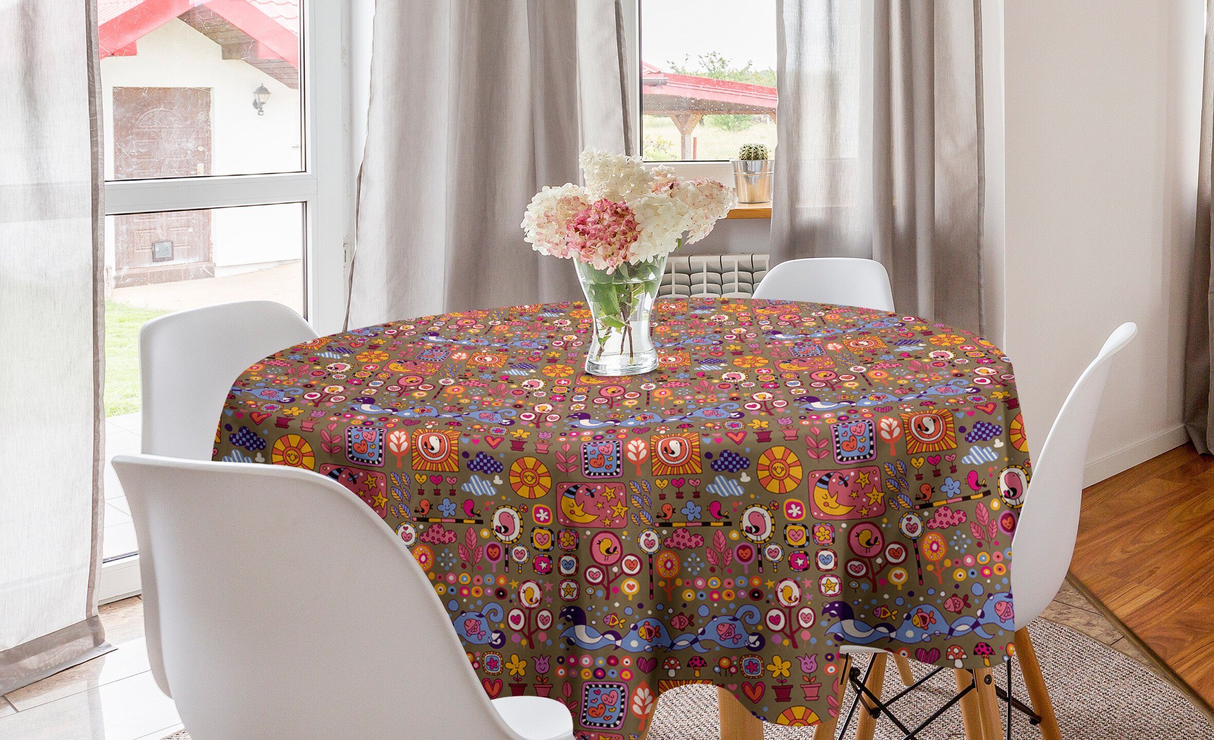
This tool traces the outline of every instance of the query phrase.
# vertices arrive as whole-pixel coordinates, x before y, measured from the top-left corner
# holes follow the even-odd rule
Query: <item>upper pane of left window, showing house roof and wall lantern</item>
[[[300,0],[97,12],[107,180],[302,169]]]

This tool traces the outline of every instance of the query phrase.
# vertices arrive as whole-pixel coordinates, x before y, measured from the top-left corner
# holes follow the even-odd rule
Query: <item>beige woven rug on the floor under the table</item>
[[[1214,740],[1214,727],[1193,708],[1184,696],[1163,679],[1134,660],[1078,632],[1044,620],[1036,621],[1029,631],[1042,660],[1042,671],[1050,687],[1054,708],[1059,716],[1062,736],[1068,740]],[[913,664],[918,676],[926,668]],[[864,666],[861,665],[861,671]],[[1016,698],[1028,701],[1025,684],[1015,672]],[[1003,685],[1006,673],[995,673]],[[890,666],[886,696],[901,690],[897,672]],[[897,687],[897,688],[895,688]],[[895,713],[907,727],[915,727],[930,716],[948,696],[955,693],[952,671],[941,671],[930,682],[895,705]],[[851,705],[849,691],[844,708]],[[999,704],[1004,712],[1003,702]],[[1037,728],[1020,713],[1012,715],[1015,740],[1039,740]],[[855,721],[847,735],[855,732]],[[767,740],[810,740],[813,730],[765,724]],[[681,687],[671,689],[658,700],[657,715],[649,729],[649,740],[717,740],[720,724],[716,713],[716,689],[711,687]],[[901,740],[902,734],[889,722],[877,724],[879,740]],[[961,715],[953,707],[920,734],[927,739],[963,739]],[[164,740],[191,740],[185,732]]]

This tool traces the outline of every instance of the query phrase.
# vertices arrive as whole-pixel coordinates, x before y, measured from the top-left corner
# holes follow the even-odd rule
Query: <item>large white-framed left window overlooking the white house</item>
[[[271,300],[322,334],[340,328],[350,227],[341,6],[98,2],[109,454],[138,449],[146,320]],[[109,469],[106,513],[114,559],[134,536]]]

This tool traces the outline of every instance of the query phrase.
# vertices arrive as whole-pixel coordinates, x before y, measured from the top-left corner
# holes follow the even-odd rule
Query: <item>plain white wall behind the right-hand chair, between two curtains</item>
[[[1094,482],[1184,442],[1202,0],[1015,0],[1004,8],[1004,348],[1039,452],[1122,321],[1091,440]]]

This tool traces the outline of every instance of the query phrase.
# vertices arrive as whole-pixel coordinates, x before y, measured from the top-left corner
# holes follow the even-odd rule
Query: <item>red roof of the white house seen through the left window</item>
[[[299,69],[299,0],[97,0],[102,58],[134,53],[135,41],[185,13],[205,15],[195,22],[209,28],[217,18],[256,42],[255,58],[282,59]]]

